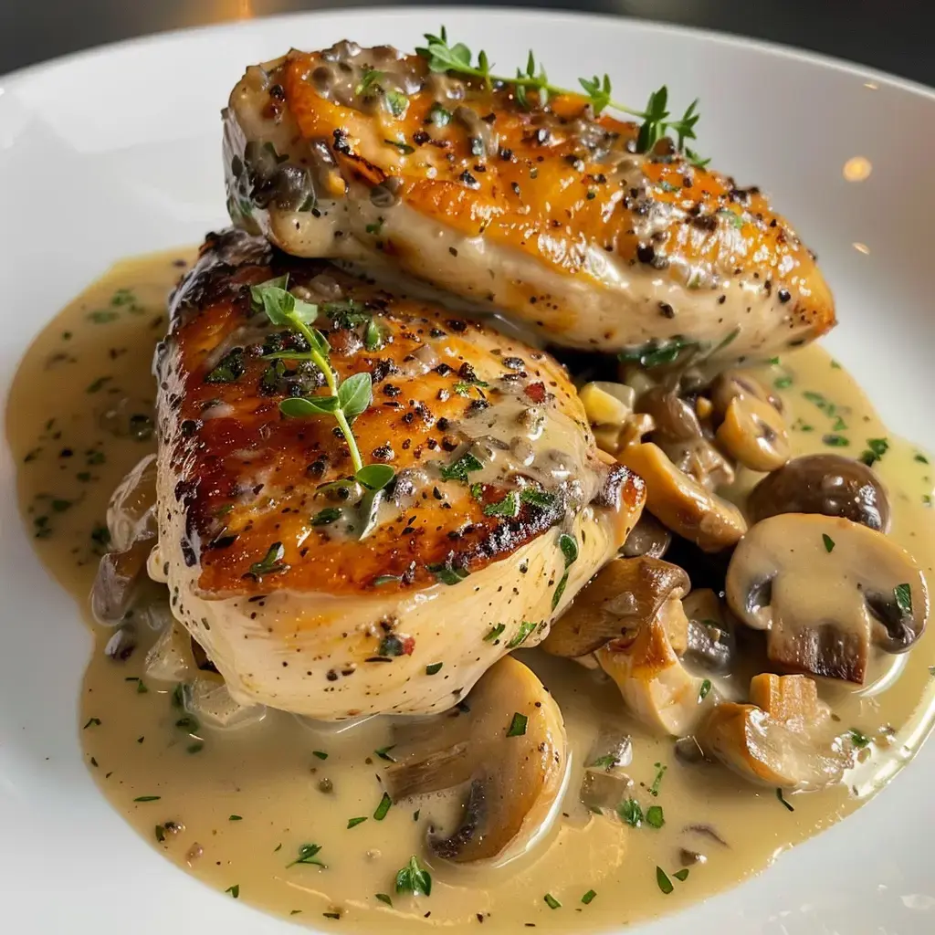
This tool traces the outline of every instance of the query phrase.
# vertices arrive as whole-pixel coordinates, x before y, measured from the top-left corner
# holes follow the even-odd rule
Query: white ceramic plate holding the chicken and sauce
[[[225,223],[219,111],[244,65],[350,36],[411,48],[446,22],[503,65],[610,72],[640,104],[701,98],[699,149],[757,182],[820,254],[841,326],[827,340],[890,426],[935,449],[935,96],[846,65],[625,20],[466,9],[315,14],[160,36],[0,79],[0,392],[41,326],[111,261]],[[869,178],[845,180],[855,156]],[[856,249],[856,244],[862,245]],[[0,931],[295,930],[218,895],[141,841],[81,762],[91,640],[39,566],[0,451]],[[932,660],[935,663],[935,659]],[[640,928],[675,935],[913,935],[935,929],[935,744],[843,824],[754,881]],[[632,929],[629,929],[632,930]]]

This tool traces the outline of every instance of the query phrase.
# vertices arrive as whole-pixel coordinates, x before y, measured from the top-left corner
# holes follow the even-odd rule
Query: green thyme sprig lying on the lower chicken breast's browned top
[[[282,351],[266,354],[269,360],[308,360],[322,371],[328,388],[326,396],[295,396],[283,399],[280,411],[291,418],[334,416],[341,435],[351,452],[354,478],[367,490],[382,490],[393,480],[395,471],[389,465],[365,465],[354,439],[351,424],[373,402],[373,381],[368,373],[355,373],[338,381],[331,367],[331,346],[317,328],[309,327],[318,317],[318,306],[296,298],[288,291],[288,274],[251,286],[250,295],[256,309],[263,309],[266,318],[280,328],[289,328],[305,338],[308,351]]]

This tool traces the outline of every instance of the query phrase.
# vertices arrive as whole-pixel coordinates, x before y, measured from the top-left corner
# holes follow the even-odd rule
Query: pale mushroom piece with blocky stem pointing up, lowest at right
[[[852,750],[840,739],[823,737],[829,712],[811,679],[757,676],[751,696],[766,707],[724,702],[705,719],[698,741],[706,755],[772,787],[819,789],[840,781],[852,764]]]

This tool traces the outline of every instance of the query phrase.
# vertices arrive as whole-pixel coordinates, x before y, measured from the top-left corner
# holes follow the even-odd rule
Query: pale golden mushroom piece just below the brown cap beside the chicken
[[[670,599],[635,640],[613,640],[595,654],[640,721],[673,737],[690,733],[704,711],[702,680],[690,675],[669,641],[669,629],[686,624],[682,602]]]

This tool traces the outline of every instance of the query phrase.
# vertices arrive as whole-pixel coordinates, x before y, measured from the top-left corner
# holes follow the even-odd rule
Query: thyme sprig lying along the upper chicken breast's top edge
[[[581,94],[580,91],[561,88],[549,81],[545,68],[537,65],[536,56],[531,50],[526,60],[525,71],[517,68],[515,77],[508,78],[495,75],[491,71],[492,66],[485,51],[478,53],[475,65],[473,53],[463,42],[449,45],[448,34],[444,26],[439,30],[439,36],[433,36],[431,33],[425,33],[424,36],[425,45],[416,49],[416,54],[426,60],[431,71],[453,71],[459,75],[478,78],[488,88],[493,87],[494,82],[511,84],[515,89],[516,100],[523,107],[529,107],[528,92],[530,91],[535,91],[539,95],[539,104],[543,106],[548,103],[550,97],[557,94]],[[684,152],[685,157],[693,165],[699,167],[708,165],[709,160],[701,159],[696,151],[685,145],[688,140],[698,138],[695,135],[695,125],[698,123],[699,116],[698,98],[688,105],[682,117],[671,120],[668,109],[669,90],[665,85],[649,95],[649,101],[644,109],[637,110],[613,100],[609,75],[579,78],[578,83],[584,92],[583,96],[587,98],[596,114],[606,108],[612,108],[642,121],[640,134],[637,137],[637,148],[640,152],[651,151],[662,137],[674,134],[676,149]]]

